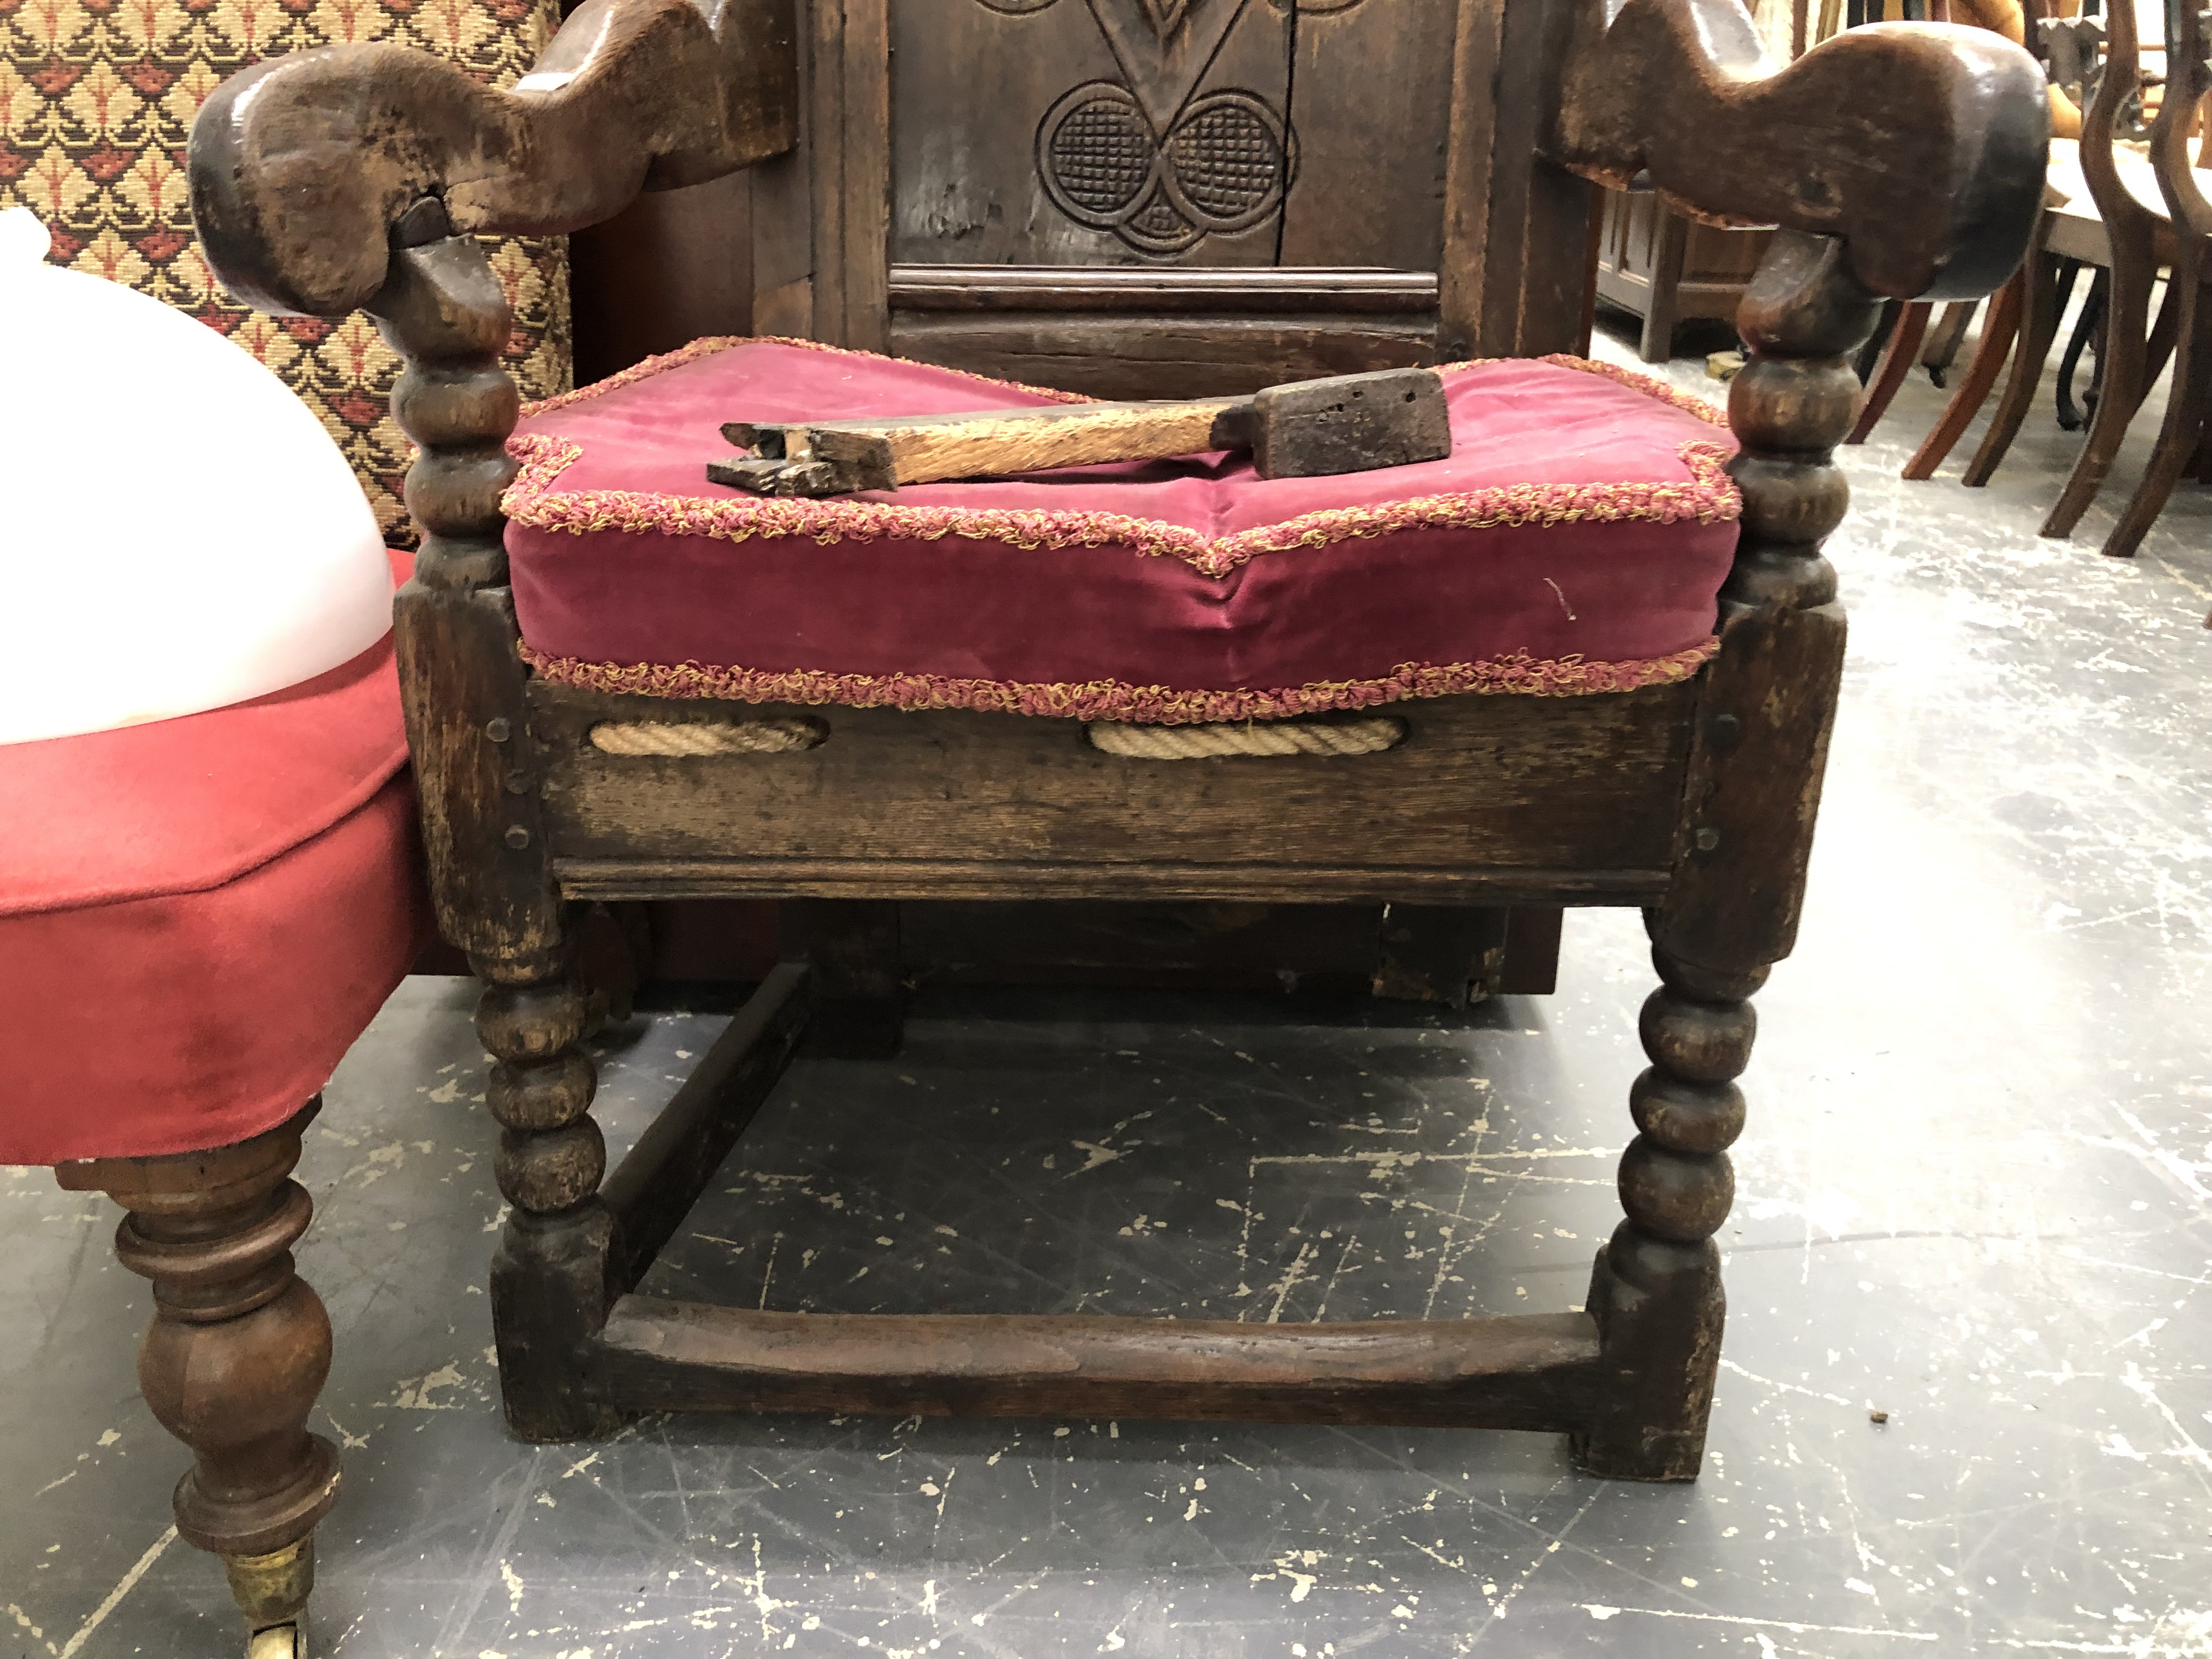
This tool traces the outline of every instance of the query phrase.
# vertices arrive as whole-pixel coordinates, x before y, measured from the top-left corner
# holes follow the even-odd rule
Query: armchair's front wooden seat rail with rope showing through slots
[[[1672,863],[1694,681],[1601,697],[1394,703],[1363,757],[1135,761],[1079,721],[880,708],[796,754],[615,757],[595,721],[721,721],[737,706],[542,681],[544,814],[560,860],[891,860],[1031,867],[1621,872]],[[925,894],[927,896],[927,894]],[[956,896],[956,894],[936,894]],[[1130,894],[1135,896],[1135,894]],[[1199,894],[1203,896],[1203,894]],[[1318,896],[1318,894],[1316,894]]]

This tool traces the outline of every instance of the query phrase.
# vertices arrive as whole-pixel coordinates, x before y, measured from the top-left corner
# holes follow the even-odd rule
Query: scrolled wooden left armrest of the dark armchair
[[[425,197],[460,232],[557,234],[796,135],[792,0],[584,0],[511,91],[392,44],[232,75],[192,122],[192,221],[239,299],[343,316]]]

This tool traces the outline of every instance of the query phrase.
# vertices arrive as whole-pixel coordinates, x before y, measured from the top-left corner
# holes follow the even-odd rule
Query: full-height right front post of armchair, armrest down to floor
[[[1849,354],[1876,310],[1840,241],[1783,232],[1736,319],[1750,347],[1728,398],[1743,533],[1690,741],[1681,854],[1648,911],[1661,989],[1641,1018],[1652,1066],[1630,1091],[1628,1219],[1590,1281],[1606,1387],[1575,1458],[1599,1475],[1694,1480],[1703,1458],[1725,1314],[1712,1234],[1734,1201],[1728,1146],[1743,1128],[1734,1079],[1752,1053],[1747,998],[1796,942],[1843,677],[1820,544],[1849,504],[1834,447],[1858,396]]]

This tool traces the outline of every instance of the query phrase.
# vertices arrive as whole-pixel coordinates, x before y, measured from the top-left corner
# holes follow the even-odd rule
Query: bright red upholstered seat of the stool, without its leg
[[[250,703],[0,745],[0,1006],[27,1033],[0,1164],[296,1113],[429,940],[405,759],[389,641]]]

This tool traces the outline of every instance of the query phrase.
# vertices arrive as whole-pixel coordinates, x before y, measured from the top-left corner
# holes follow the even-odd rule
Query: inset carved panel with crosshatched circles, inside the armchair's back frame
[[[891,263],[1433,270],[1455,11],[900,0]]]

